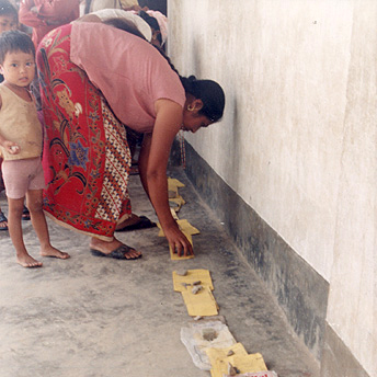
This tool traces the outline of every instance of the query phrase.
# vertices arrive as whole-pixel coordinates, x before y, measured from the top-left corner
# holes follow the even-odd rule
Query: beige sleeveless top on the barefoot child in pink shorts
[[[4,160],[22,160],[42,155],[42,126],[35,102],[27,102],[0,84],[2,105],[0,108],[0,135],[20,147],[18,155],[10,155],[3,147]]]

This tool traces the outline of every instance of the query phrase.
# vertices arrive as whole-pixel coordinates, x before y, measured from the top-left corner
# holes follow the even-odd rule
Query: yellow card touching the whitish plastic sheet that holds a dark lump
[[[190,287],[182,292],[182,297],[187,308],[188,316],[207,317],[218,315],[218,306],[208,287],[203,287],[196,294],[193,294],[191,289],[192,288]]]

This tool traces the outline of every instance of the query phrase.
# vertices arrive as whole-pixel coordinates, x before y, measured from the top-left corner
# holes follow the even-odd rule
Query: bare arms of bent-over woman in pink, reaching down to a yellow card
[[[153,133],[145,135],[140,150],[140,179],[170,247],[179,255],[190,255],[193,248],[170,212],[167,179],[170,149],[182,124],[182,106],[169,100],[158,100],[156,113]]]

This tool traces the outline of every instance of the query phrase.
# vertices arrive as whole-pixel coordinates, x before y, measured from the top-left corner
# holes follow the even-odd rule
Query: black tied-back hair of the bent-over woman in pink
[[[205,115],[212,122],[222,117],[225,107],[225,93],[222,88],[212,80],[197,80],[195,76],[181,77],[181,82],[186,93],[201,99],[203,107],[199,114]]]

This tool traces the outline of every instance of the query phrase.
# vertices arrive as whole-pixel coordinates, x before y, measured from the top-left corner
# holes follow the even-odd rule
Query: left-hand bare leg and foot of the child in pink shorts
[[[8,229],[12,243],[15,249],[16,262],[23,267],[41,267],[42,262],[32,258],[25,248],[22,237],[21,217],[24,204],[24,197],[20,199],[8,198]]]

